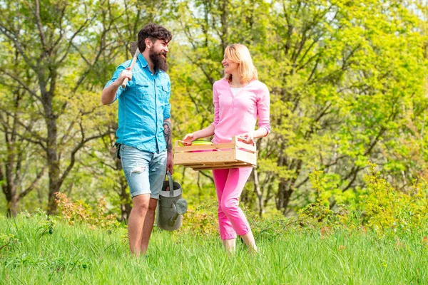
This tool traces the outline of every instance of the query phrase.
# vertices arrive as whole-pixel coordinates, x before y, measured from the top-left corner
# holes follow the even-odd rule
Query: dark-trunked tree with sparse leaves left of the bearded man
[[[116,16],[111,15],[113,8],[108,1],[36,0],[1,6],[1,38],[14,46],[19,61],[25,63],[25,73],[34,81],[26,83],[19,78],[14,66],[2,66],[1,71],[31,96],[36,106],[34,117],[46,126],[25,139],[46,154],[49,212],[56,212],[54,193],[75,165],[78,150],[90,140],[111,133],[102,125],[89,128],[90,120],[98,115],[98,96],[81,86],[96,70],[101,55],[111,52],[115,41],[108,38],[108,32],[113,30]],[[98,25],[101,31],[91,25]],[[76,63],[82,68],[77,69]],[[41,122],[25,122],[27,126],[34,123]]]

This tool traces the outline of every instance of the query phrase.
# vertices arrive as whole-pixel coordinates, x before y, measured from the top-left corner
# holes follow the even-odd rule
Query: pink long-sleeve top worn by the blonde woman
[[[232,137],[265,128],[270,133],[269,90],[260,81],[250,81],[233,95],[228,81],[223,78],[213,85],[214,143],[231,142]]]

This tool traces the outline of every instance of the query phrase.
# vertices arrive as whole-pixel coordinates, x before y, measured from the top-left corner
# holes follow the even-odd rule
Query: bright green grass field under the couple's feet
[[[230,257],[218,238],[155,229],[148,256],[135,258],[125,229],[58,223],[49,234],[43,225],[0,217],[1,284],[428,284],[421,236],[286,231],[258,239],[256,256],[239,242]]]

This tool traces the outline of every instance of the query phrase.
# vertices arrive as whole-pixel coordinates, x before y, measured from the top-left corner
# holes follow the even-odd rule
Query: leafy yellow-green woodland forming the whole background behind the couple
[[[1,209],[46,209],[58,187],[84,199],[82,209],[104,195],[126,218],[131,199],[110,153],[117,105],[101,107],[99,97],[131,57],[138,30],[156,21],[173,32],[175,139],[212,122],[212,85],[229,43],[249,47],[270,89],[272,133],[258,140],[245,207],[350,227],[364,219],[364,227],[399,230],[394,222],[424,219],[417,186],[428,177],[424,1],[46,0],[0,11]],[[364,178],[367,159],[382,165],[384,182]],[[210,172],[175,167],[174,179],[193,209],[214,199]],[[405,214],[384,203],[412,207]],[[189,220],[214,228],[201,213]]]

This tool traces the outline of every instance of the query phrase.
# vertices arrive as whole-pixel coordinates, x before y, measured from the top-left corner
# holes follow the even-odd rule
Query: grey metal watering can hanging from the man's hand
[[[180,184],[173,182],[170,172],[166,172],[168,181],[163,182],[159,194],[158,210],[156,211],[156,224],[166,231],[174,231],[181,227],[181,215],[187,212],[187,201],[181,198],[183,190]],[[169,191],[167,188],[169,187]]]

